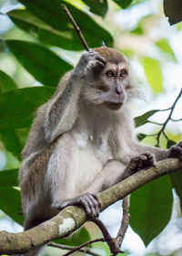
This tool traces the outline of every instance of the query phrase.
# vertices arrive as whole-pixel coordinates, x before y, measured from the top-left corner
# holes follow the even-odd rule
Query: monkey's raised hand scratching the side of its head
[[[76,65],[74,75],[81,79],[85,79],[92,71],[99,73],[102,69],[104,69],[105,65],[106,60],[102,58],[96,51],[90,50],[82,54]]]

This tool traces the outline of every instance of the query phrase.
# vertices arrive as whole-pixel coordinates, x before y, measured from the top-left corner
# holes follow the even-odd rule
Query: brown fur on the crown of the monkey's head
[[[119,52],[115,48],[94,48],[107,62],[118,64],[120,62],[128,62],[123,53]]]

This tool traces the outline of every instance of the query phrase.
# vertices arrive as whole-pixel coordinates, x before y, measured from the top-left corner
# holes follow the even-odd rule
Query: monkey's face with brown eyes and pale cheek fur
[[[127,100],[129,67],[124,61],[106,62],[105,67],[96,66],[87,78],[84,86],[84,99],[101,104],[111,110],[118,110]]]

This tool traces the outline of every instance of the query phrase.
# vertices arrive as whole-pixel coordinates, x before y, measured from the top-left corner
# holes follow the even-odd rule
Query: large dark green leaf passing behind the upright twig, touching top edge
[[[20,0],[20,2],[25,5],[28,11],[43,20],[49,26],[60,31],[73,30],[74,33],[76,33],[65,12],[61,9],[60,0]],[[91,16],[78,10],[73,5],[66,3],[66,6],[72,16],[76,19],[76,23],[81,28],[90,48],[102,46],[103,41],[107,47],[113,46],[113,38],[104,28],[96,24]]]

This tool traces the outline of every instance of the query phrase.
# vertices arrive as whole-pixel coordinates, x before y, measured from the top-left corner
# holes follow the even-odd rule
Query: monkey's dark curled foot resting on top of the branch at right
[[[138,155],[130,161],[130,172],[136,173],[139,170],[151,166],[155,166],[155,157],[150,153]]]

